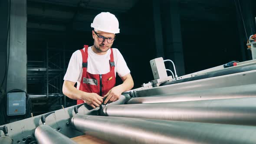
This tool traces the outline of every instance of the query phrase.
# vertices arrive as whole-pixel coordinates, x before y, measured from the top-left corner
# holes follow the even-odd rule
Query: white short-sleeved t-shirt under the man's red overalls
[[[85,48],[83,49],[85,50]],[[108,49],[105,55],[98,55],[92,51],[92,47],[88,47],[88,59],[87,59],[87,72],[91,74],[106,74],[110,71],[109,59],[111,50]],[[123,77],[130,73],[124,57],[121,55],[118,49],[113,48],[113,56],[115,62],[115,75],[116,72],[120,77]],[[77,82],[77,89],[79,88],[82,79],[82,53],[80,50],[75,51],[69,61],[67,72],[64,76],[64,80],[71,82]]]

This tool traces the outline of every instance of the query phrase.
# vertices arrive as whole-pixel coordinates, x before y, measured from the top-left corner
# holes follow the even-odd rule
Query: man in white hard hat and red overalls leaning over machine
[[[100,13],[95,16],[91,27],[93,46],[84,46],[71,56],[64,76],[63,94],[76,99],[77,104],[87,103],[93,108],[117,101],[122,92],[130,90],[134,83],[126,62],[111,46],[115,33],[119,33],[119,23],[115,15]],[[115,86],[116,72],[123,83]],[[77,82],[77,88],[74,87]]]

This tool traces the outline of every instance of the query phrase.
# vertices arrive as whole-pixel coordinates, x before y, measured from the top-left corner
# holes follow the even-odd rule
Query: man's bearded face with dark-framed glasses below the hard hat
[[[104,36],[105,38],[111,38],[111,39],[115,38],[115,34],[113,34],[113,33],[106,33],[106,32],[102,32],[102,31],[97,31],[96,33],[98,36]],[[104,39],[102,42],[99,41],[96,33],[94,32],[94,30],[92,31],[92,38],[94,39],[95,50],[99,53],[107,52],[108,49],[111,48],[113,43],[108,43],[108,42],[111,42],[110,39]]]

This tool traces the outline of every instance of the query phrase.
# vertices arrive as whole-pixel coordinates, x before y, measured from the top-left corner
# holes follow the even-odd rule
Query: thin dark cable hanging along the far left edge
[[[8,13],[8,21],[7,21],[7,39],[6,42],[8,44],[8,57],[7,59],[7,65],[5,66],[5,72],[4,72],[4,76],[3,76],[3,81],[1,83],[1,87],[3,87],[3,83],[5,81],[5,78],[7,76],[8,73],[8,67],[9,67],[9,57],[10,57],[10,11],[11,11],[11,0],[9,0],[9,13]]]

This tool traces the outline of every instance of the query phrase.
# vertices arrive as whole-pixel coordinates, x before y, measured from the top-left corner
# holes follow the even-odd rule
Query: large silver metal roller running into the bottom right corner
[[[254,126],[76,115],[73,128],[112,144],[255,144]]]

